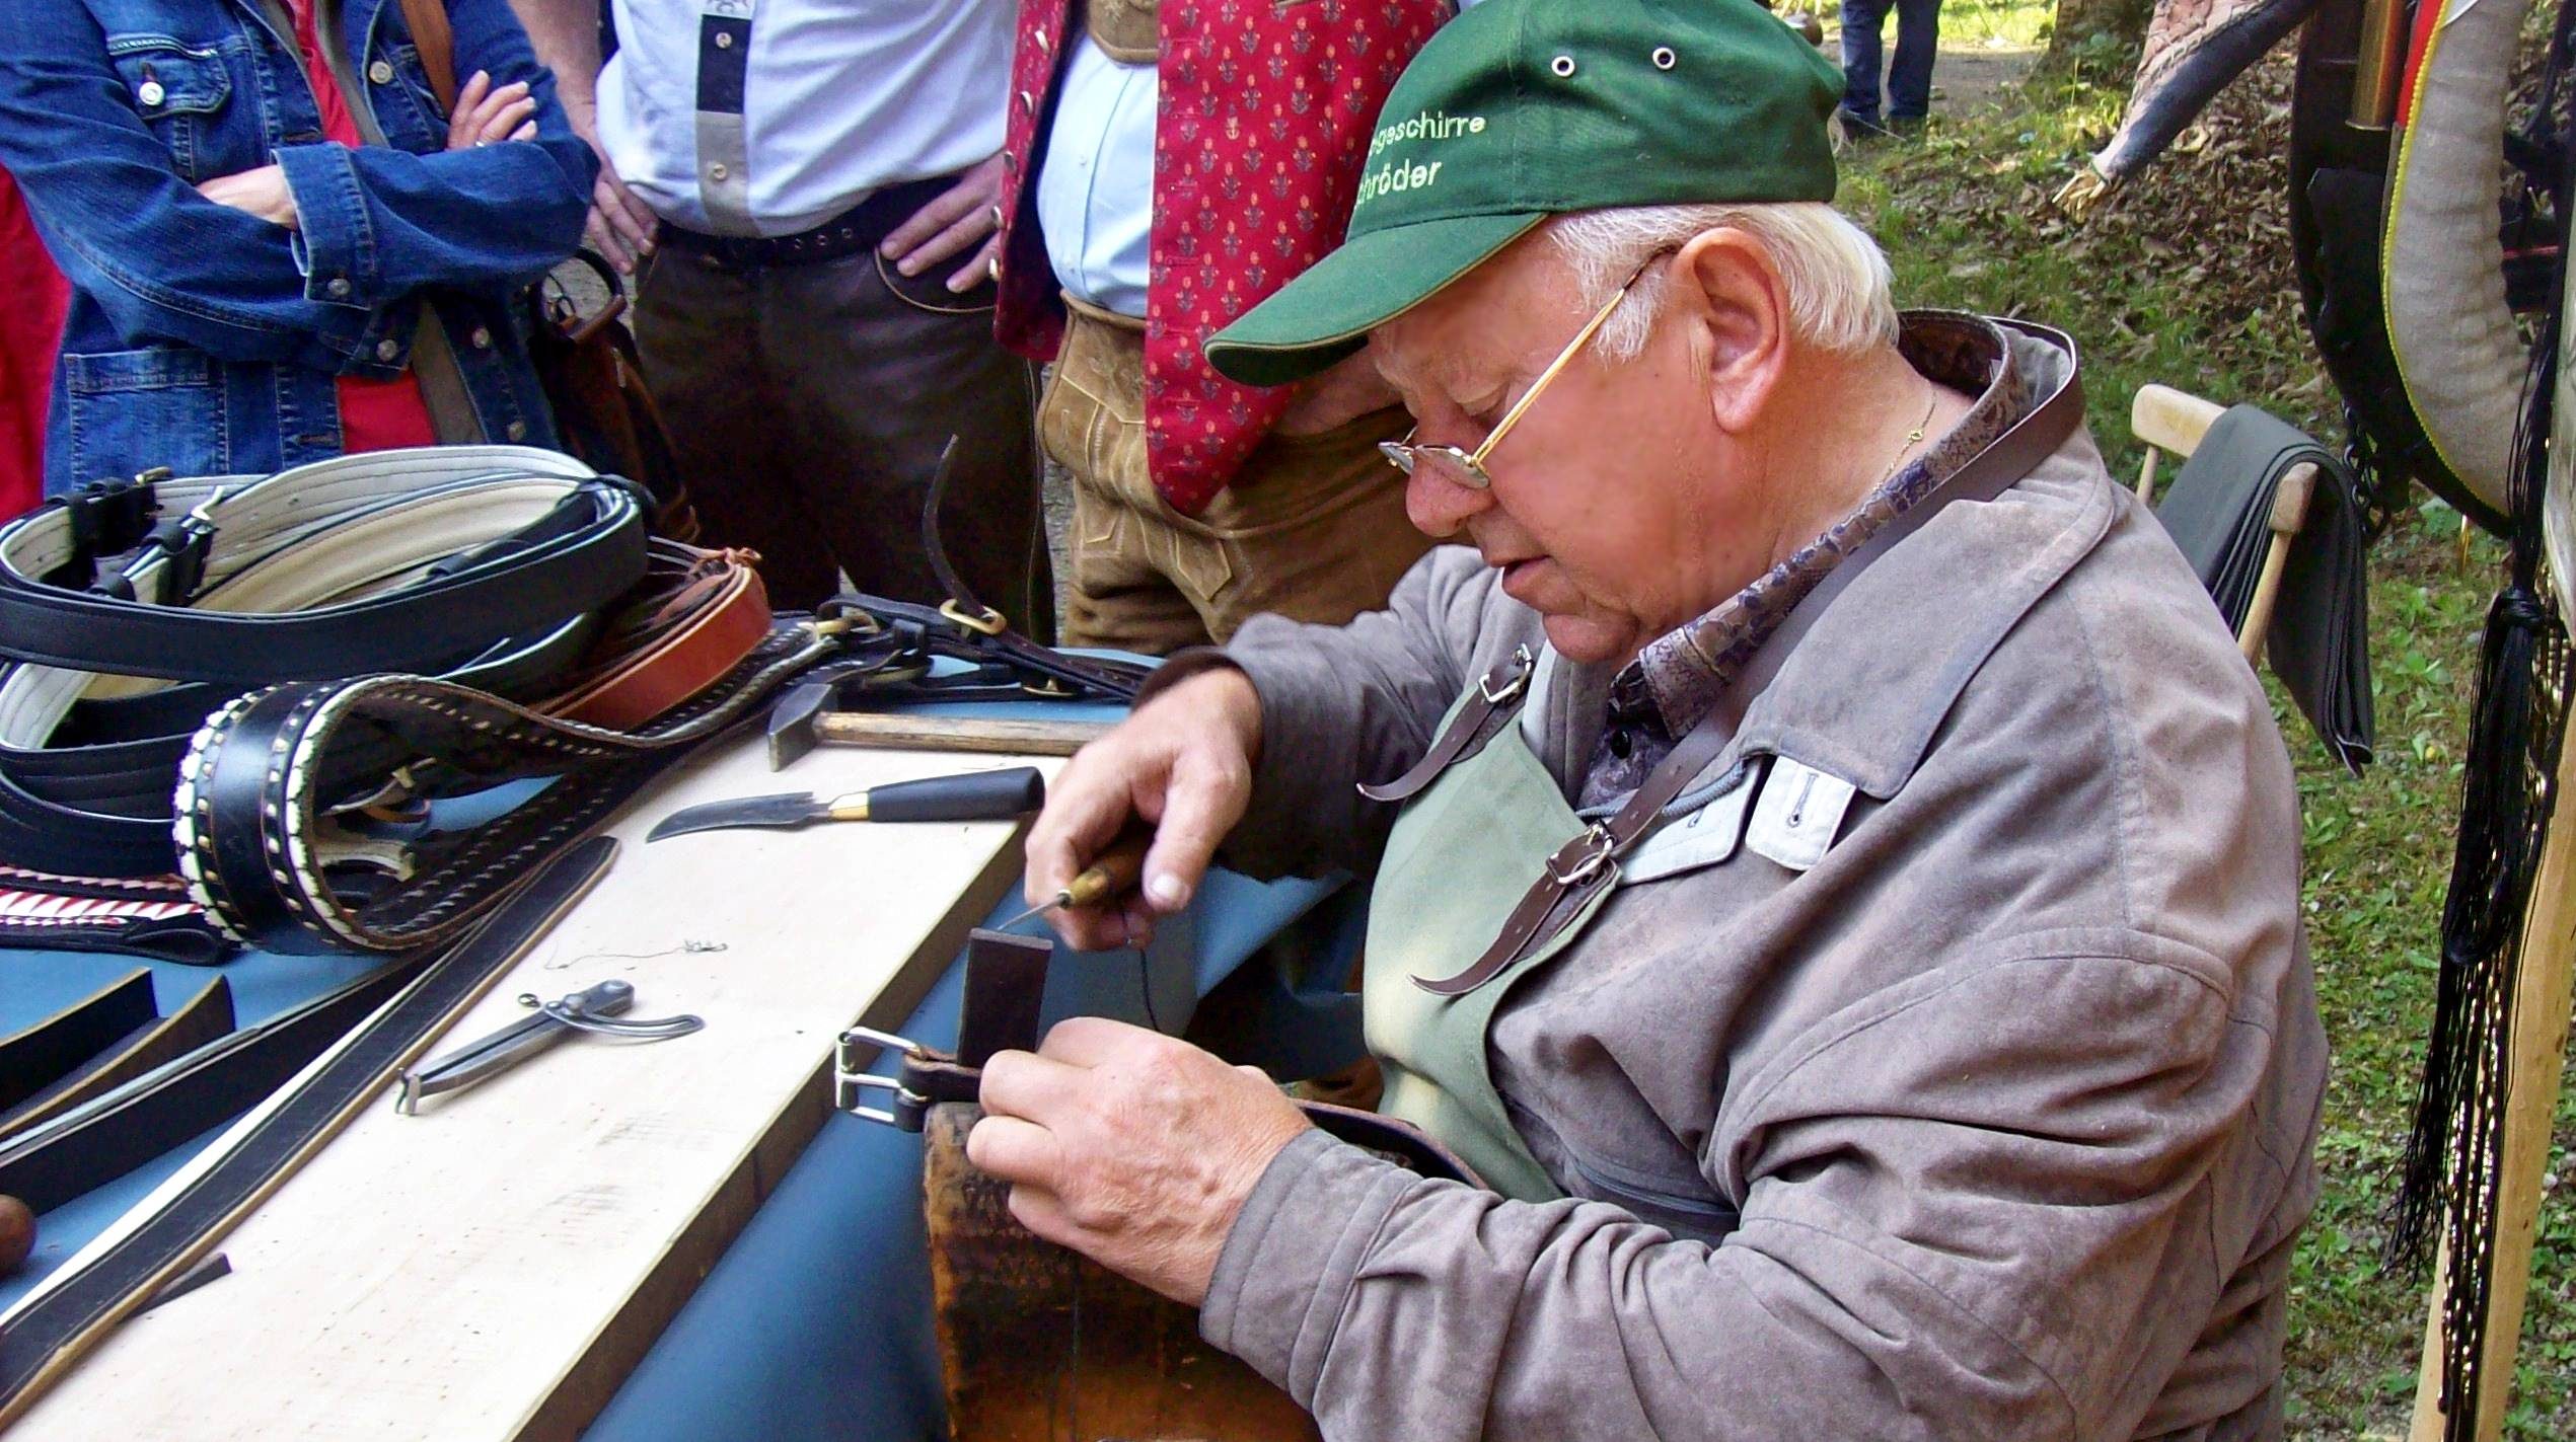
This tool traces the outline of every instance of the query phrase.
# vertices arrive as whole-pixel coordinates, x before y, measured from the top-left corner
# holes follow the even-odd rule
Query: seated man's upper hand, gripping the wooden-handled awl
[[[1090,865],[1128,816],[1154,824],[1144,894],[1051,912],[1056,935],[1082,950],[1146,945],[1154,917],[1190,904],[1216,842],[1252,803],[1262,700],[1234,667],[1200,672],[1144,703],[1115,731],[1082,747],[1046,788],[1028,829],[1028,904],[1051,901]]]

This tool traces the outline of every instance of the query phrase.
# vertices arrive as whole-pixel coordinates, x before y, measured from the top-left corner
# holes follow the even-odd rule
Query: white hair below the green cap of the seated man
[[[1548,239],[1574,265],[1587,306],[1610,296],[1649,255],[1674,250],[1710,229],[1741,229],[1770,250],[1788,291],[1790,330],[1821,350],[1868,350],[1896,342],[1888,258],[1865,229],[1821,201],[1620,206],[1574,211],[1548,224]],[[1595,345],[1613,360],[1636,360],[1664,312],[1664,268],[1654,268],[1610,312]]]

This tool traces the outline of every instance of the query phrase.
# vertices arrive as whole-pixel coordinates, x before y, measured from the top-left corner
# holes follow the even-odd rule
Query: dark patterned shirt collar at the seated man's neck
[[[1880,525],[1940,489],[1960,466],[2020,420],[2032,399],[2012,363],[2004,332],[1958,312],[1906,312],[1896,350],[1924,379],[1976,397],[1929,451],[1880,482],[1850,515],[1837,520],[1754,585],[1716,610],[1646,644],[1610,682],[1610,718],[1602,729],[1577,806],[1607,814],[1646,780],[1646,772],[1708,716],[1736,672],[1806,592],[1844,556],[1860,551]]]

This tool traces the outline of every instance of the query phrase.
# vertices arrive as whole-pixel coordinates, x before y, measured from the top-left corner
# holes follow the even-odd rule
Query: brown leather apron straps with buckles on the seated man
[[[2066,350],[2074,358],[2074,340],[2063,332],[2027,324],[2027,322],[1996,322],[2007,330],[2020,330],[2035,335]],[[1780,675],[1798,641],[1816,626],[1816,621],[1834,605],[1860,574],[1896,548],[1906,536],[1922,530],[1935,515],[1955,502],[1991,502],[2014,487],[2022,476],[2040,466],[2069,435],[2084,422],[2084,384],[2074,366],[2066,371],[2066,381],[2035,404],[2022,420],[2012,422],[2002,435],[1996,435],[1984,451],[1968,458],[1965,466],[1950,474],[1932,494],[1914,502],[1909,510],[1899,512],[1893,520],[1878,528],[1860,551],[1842,559],[1832,572],[1806,597],[1790,608],[1780,626],[1770,633],[1759,651],[1744,664],[1726,693],[1710,706],[1708,716],[1700,718],[1667,754],[1636,793],[1605,821],[1595,821],[1582,834],[1571,837],[1556,850],[1540,868],[1540,876],[1522,894],[1520,904],[1502,924],[1502,935],[1479,955],[1466,971],[1455,976],[1414,976],[1414,986],[1432,991],[1437,997],[1463,997],[1504,968],[1512,966],[1530,948],[1543,945],[1556,937],[1584,904],[1618,883],[1618,857],[1628,852],[1654,824],[1662,819],[1664,806],[1669,806],[1690,783],[1705,772],[1728,744],[1736,739],[1736,729],[1744,721],[1747,708],[1759,698],[1770,682]],[[1517,659],[1494,667],[1484,682],[1484,690],[1504,690],[1515,675],[1525,675],[1528,662]],[[1520,693],[1512,693],[1512,706],[1517,711]],[[1473,706],[1471,706],[1473,711]],[[1466,721],[1468,713],[1461,713]],[[1492,726],[1489,716],[1479,716],[1479,729]],[[1450,726],[1458,731],[1461,726]],[[1492,731],[1486,731],[1492,734]],[[1448,736],[1435,742],[1435,754],[1448,744]],[[1463,749],[1463,744],[1461,744]],[[1430,760],[1430,757],[1425,757]],[[1412,791],[1430,785],[1430,775],[1406,772],[1394,785],[1412,783]],[[1365,791],[1365,788],[1363,788]],[[1409,791],[1406,791],[1409,796]]]

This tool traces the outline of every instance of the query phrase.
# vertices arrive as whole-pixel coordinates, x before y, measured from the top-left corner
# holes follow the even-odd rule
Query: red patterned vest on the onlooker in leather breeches
[[[1002,175],[1002,345],[1048,360],[1064,299],[1038,188],[1072,0],[1020,0]],[[1162,0],[1144,451],[1154,489],[1198,515],[1293,399],[1218,376],[1200,342],[1342,245],[1368,134],[1450,0]]]

